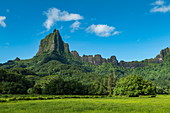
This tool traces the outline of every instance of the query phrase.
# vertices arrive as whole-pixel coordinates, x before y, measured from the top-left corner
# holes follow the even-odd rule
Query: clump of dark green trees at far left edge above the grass
[[[32,87],[30,81],[21,75],[0,69],[0,93],[2,94],[25,94],[29,87]]]

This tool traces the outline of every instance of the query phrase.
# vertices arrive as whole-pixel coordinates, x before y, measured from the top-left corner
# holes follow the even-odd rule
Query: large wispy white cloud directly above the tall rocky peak
[[[83,16],[79,14],[61,11],[57,8],[50,8],[48,11],[44,12],[44,14],[47,16],[47,19],[43,23],[43,26],[47,28],[47,30],[49,30],[58,21],[73,21],[83,19]]]

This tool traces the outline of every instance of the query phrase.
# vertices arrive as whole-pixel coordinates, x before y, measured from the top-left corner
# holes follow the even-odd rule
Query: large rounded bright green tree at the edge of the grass
[[[115,95],[128,95],[136,97],[139,95],[155,95],[156,87],[151,82],[143,80],[142,76],[127,76],[116,83]]]

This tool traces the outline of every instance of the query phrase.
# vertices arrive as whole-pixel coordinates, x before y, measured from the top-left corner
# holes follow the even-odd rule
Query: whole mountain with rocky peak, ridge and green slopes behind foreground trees
[[[76,50],[70,52],[69,45],[62,40],[56,29],[41,40],[39,50],[33,58],[22,60],[17,57],[0,64],[0,68],[9,73],[26,77],[35,83],[35,87],[37,84],[44,87],[50,80],[61,77],[89,86],[92,91],[89,94],[106,94],[110,79],[128,75],[141,75],[144,79],[153,81],[162,91],[170,92],[169,67],[169,47],[161,50],[155,58],[143,61],[118,61],[116,56],[106,59],[100,54],[80,56]]]

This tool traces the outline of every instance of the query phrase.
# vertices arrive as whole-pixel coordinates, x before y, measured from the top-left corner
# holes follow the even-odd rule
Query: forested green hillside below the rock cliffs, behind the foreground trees
[[[95,66],[75,59],[69,54],[59,55],[55,51],[43,52],[29,60],[1,64],[0,67],[7,70],[0,69],[0,76],[3,75],[0,80],[14,83],[26,80],[28,82],[19,84],[25,84],[30,94],[41,94],[52,79],[61,77],[64,81],[74,80],[81,83],[85,87],[86,94],[112,95],[117,80],[128,75],[141,75],[144,79],[153,82],[157,87],[157,93],[167,94],[170,93],[169,59],[170,54],[167,54],[162,63],[148,63],[145,67],[125,68],[111,63]],[[131,64],[133,63],[135,62]]]

